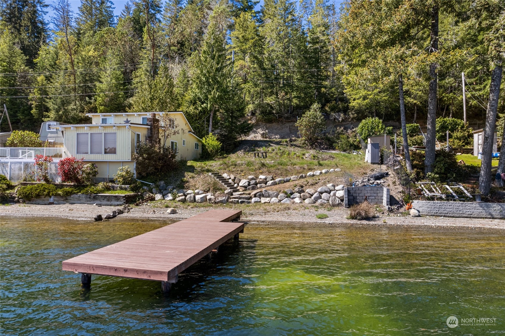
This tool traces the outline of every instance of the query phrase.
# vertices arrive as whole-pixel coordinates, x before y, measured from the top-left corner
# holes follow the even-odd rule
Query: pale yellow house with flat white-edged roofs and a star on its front
[[[51,126],[62,131],[63,157],[84,158],[87,163],[95,163],[100,180],[112,179],[118,168],[128,165],[135,170],[133,154],[137,142],[158,137],[163,144],[163,129],[158,118],[170,114],[172,129],[179,134],[166,139],[165,146],[177,152],[178,160],[192,160],[200,156],[201,139],[195,134],[182,111],[163,113],[113,113],[87,114],[91,124]],[[159,129],[162,126],[162,129]],[[170,125],[169,125],[170,127]]]

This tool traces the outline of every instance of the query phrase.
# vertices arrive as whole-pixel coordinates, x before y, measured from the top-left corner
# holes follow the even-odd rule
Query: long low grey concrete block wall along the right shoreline
[[[505,218],[505,203],[413,201],[421,215],[460,218]]]

